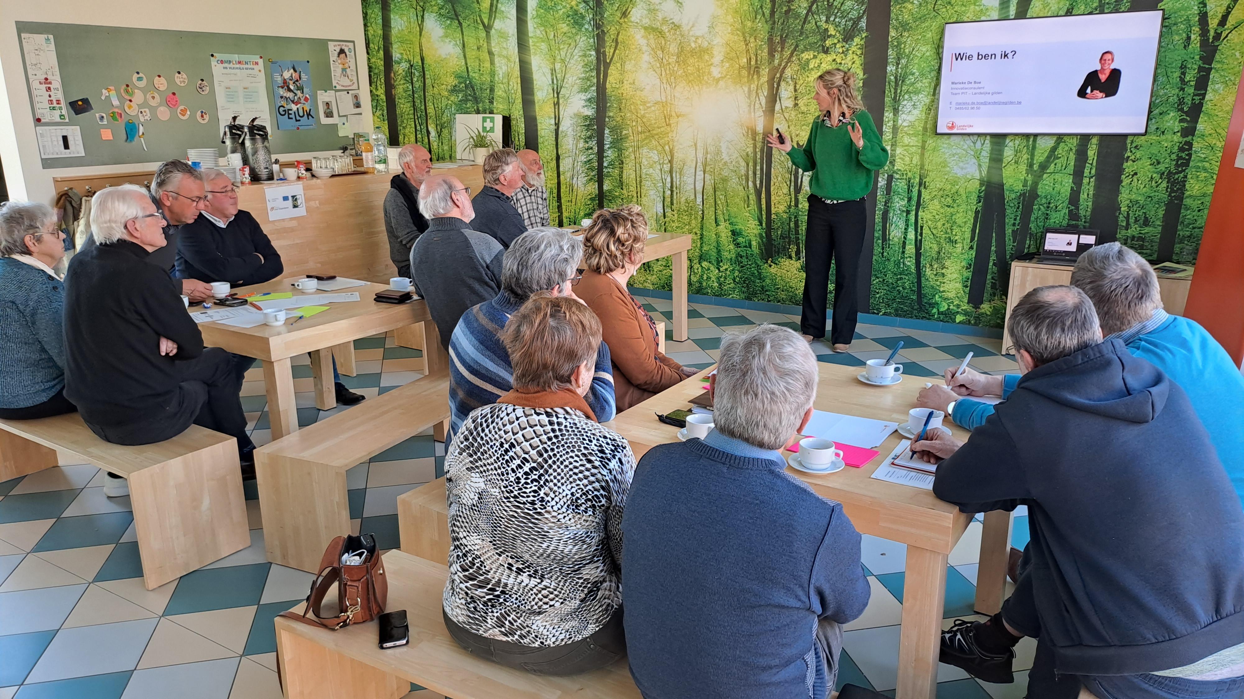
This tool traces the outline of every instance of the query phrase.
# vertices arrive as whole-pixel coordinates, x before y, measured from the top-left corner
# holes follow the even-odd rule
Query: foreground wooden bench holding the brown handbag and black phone
[[[377,623],[326,631],[276,617],[286,699],[396,699],[409,683],[453,699],[639,699],[626,662],[571,677],[525,673],[471,655],[449,636],[440,596],[449,571],[402,551],[384,555],[388,609],[406,609],[411,643],[377,647]],[[302,609],[302,604],[296,607]]]

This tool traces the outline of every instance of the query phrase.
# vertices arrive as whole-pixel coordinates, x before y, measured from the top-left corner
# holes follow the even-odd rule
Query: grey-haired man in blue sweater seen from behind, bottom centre
[[[622,517],[631,674],[646,699],[824,699],[868,604],[842,505],[785,473],[816,357],[761,325],[722,338],[707,438],[644,454]]]

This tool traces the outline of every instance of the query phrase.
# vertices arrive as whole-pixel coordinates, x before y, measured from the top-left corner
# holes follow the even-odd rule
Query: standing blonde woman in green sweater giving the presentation
[[[865,197],[872,189],[873,173],[886,165],[889,152],[872,117],[856,95],[856,76],[841,68],[816,78],[816,106],[821,114],[812,122],[807,143],[792,148],[787,138],[765,136],[769,146],[790,157],[796,168],[812,173],[807,197],[807,235],[804,241],[804,340],[825,337],[825,301],[833,275],[833,327],[830,341],[835,352],[846,352],[855,337],[860,315],[857,297],[860,252],[867,225]]]

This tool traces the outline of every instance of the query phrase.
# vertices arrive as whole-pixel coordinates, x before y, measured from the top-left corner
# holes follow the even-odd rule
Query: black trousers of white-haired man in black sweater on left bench
[[[194,359],[177,362],[182,383],[173,404],[149,420],[122,425],[86,423],[100,439],[112,444],[154,444],[172,439],[192,424],[238,439],[238,453],[255,449],[246,434],[246,415],[241,412],[241,381],[234,354],[208,347]]]

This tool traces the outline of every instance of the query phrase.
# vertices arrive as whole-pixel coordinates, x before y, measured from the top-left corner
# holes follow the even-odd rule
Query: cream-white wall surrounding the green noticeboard
[[[52,203],[52,177],[154,169],[159,163],[126,163],[45,170],[35,143],[35,118],[22,68],[21,42],[14,22],[65,22],[180,31],[216,31],[264,36],[337,39],[355,42],[364,118],[371,128],[371,93],[363,9],[358,0],[259,1],[243,4],[203,0],[0,0],[0,164],[9,197]],[[119,60],[124,47],[117,47]]]

